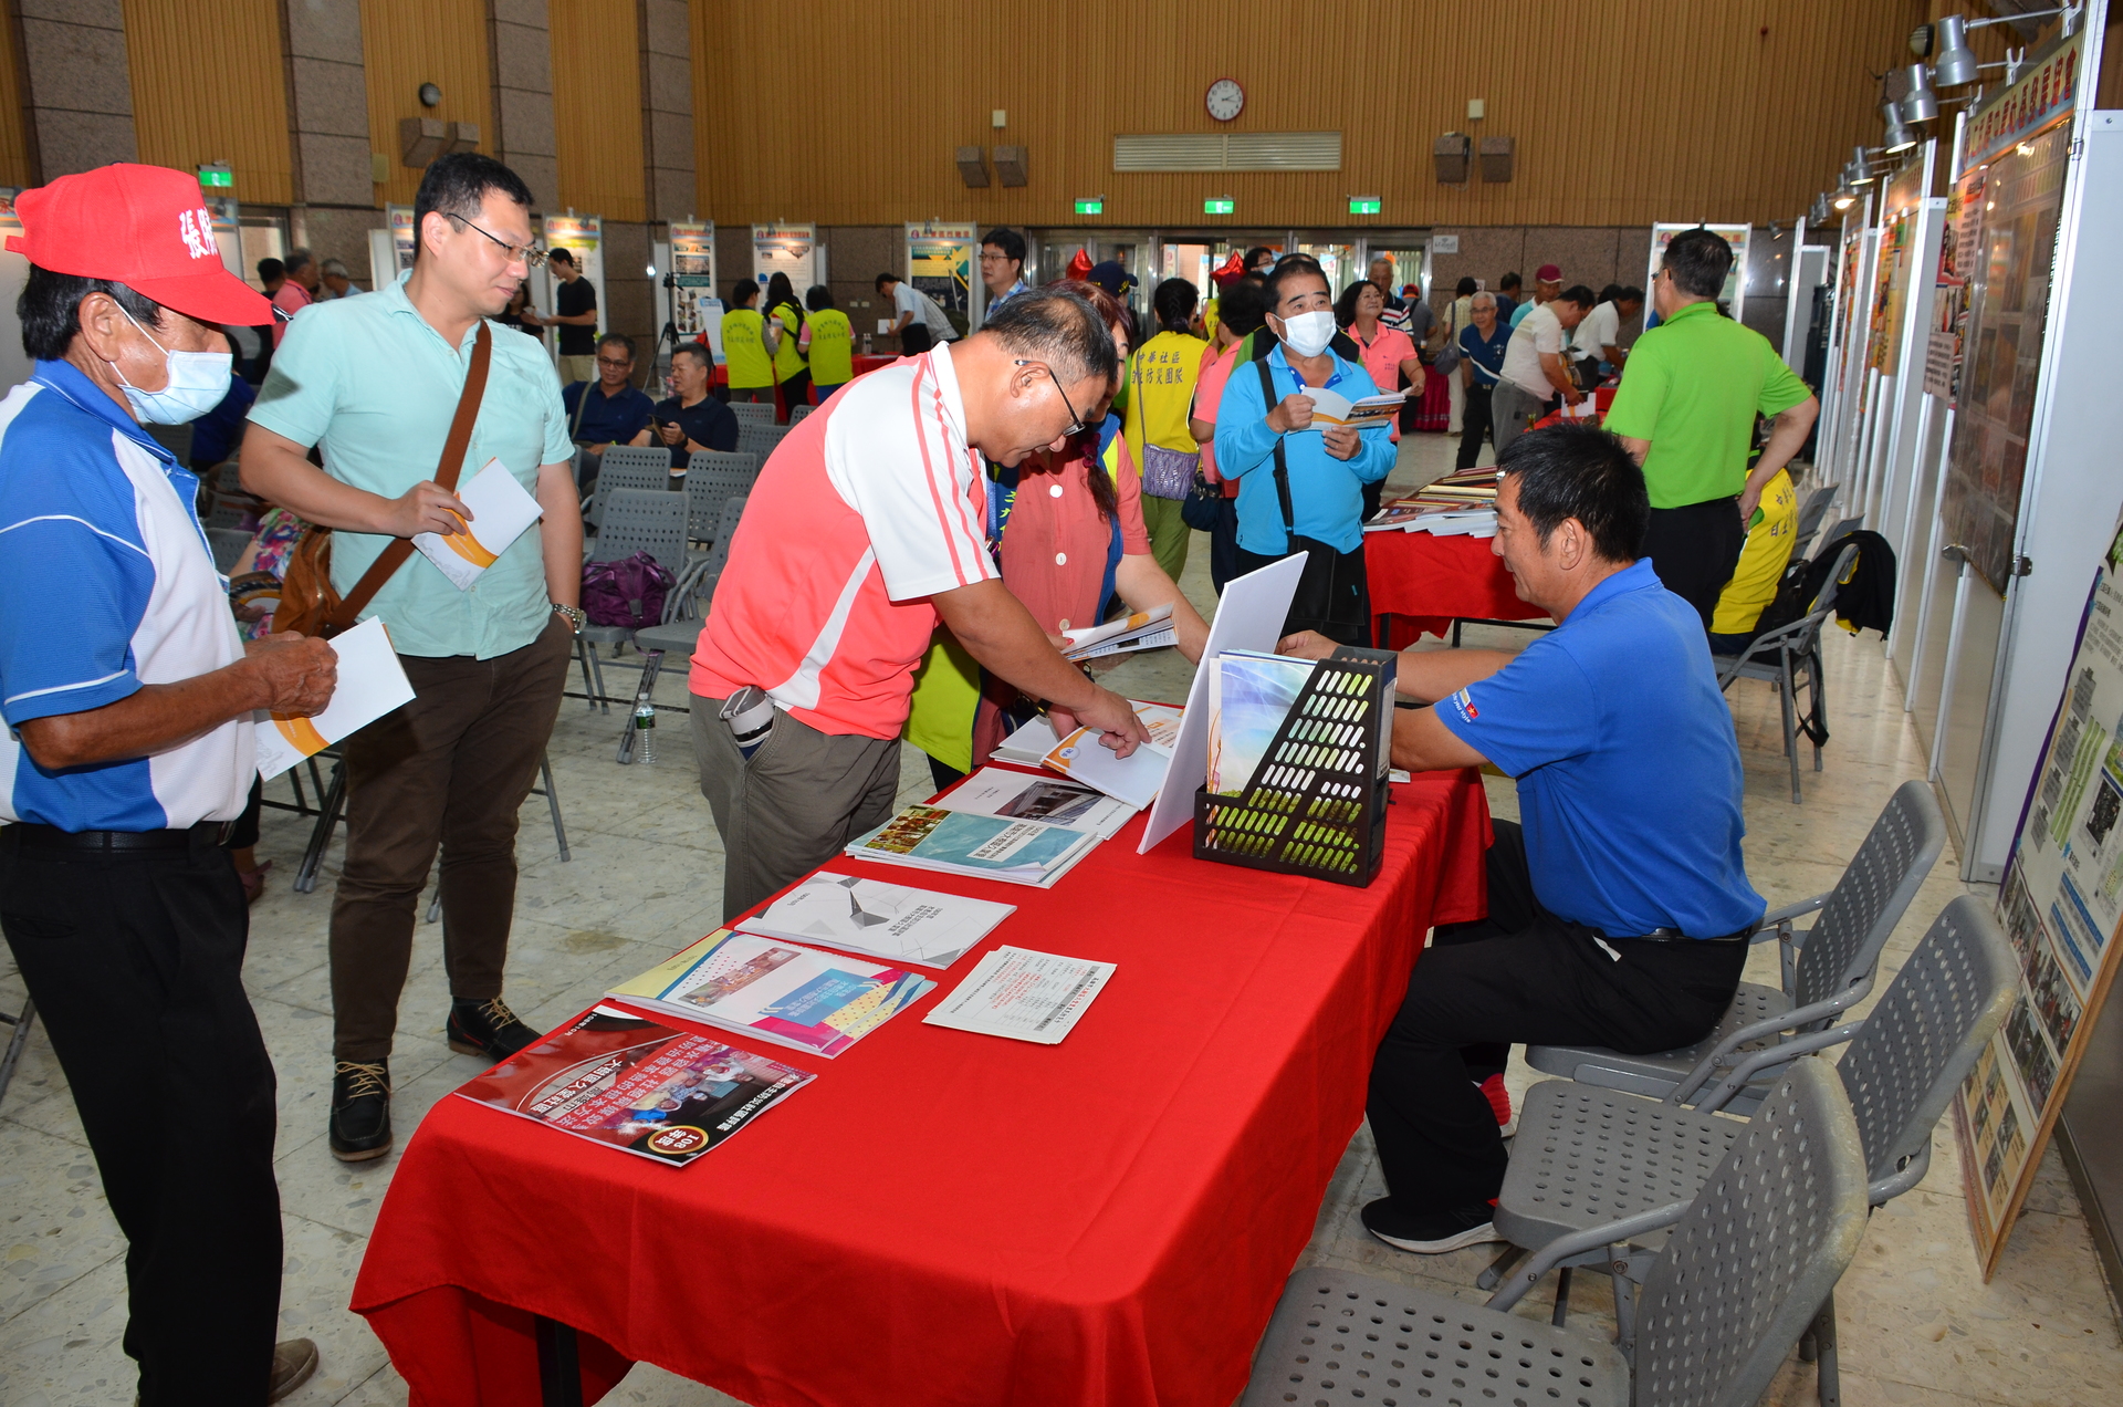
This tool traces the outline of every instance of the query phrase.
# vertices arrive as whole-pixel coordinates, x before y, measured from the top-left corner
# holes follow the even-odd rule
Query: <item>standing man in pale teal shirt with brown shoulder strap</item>
[[[529,336],[493,323],[543,253],[531,191],[478,153],[427,168],[410,274],[289,325],[244,436],[244,487],[338,529],[346,595],[393,538],[471,512],[435,482],[480,336],[486,389],[459,465],[488,461],[537,497],[469,591],[414,553],[361,612],[391,629],[416,697],[346,740],[346,869],[331,903],[331,1152],[391,1152],[391,1037],[414,910],[442,846],[452,1050],[499,1061],[537,1039],[501,1001],[516,912],[516,812],[552,735],[582,625],[582,514],[560,383]],[[325,470],[308,461],[325,446]]]

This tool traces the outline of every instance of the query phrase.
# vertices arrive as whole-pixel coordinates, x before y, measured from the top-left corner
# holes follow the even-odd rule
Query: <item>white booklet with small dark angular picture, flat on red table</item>
[[[1023,774],[1004,772],[1000,776]],[[974,774],[977,778],[979,774]],[[1047,782],[1045,778],[1023,780],[1068,786],[1068,782]],[[1098,793],[1091,795],[1106,801]],[[907,888],[904,884],[858,880],[822,869],[775,899],[764,914],[739,918],[737,927],[745,933],[798,944],[828,944],[849,952],[866,952],[887,963],[949,967],[1015,912],[1015,903],[938,895],[932,888]]]

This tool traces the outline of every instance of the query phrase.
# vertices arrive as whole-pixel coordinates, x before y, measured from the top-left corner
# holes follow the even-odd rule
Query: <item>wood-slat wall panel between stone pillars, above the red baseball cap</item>
[[[278,0],[123,0],[123,6],[140,159],[178,170],[227,162],[238,200],[289,204],[295,164]],[[15,113],[19,104],[11,104]]]

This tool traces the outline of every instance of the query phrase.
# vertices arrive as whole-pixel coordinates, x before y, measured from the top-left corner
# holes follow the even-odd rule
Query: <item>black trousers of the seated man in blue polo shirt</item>
[[[1490,1201],[1509,1160],[1475,1088],[1512,1044],[1607,1046],[1630,1054],[1703,1039],[1739,986],[1747,944],[1603,939],[1533,897],[1526,840],[1497,823],[1488,918],[1446,925],[1416,961],[1399,1016],[1371,1061],[1367,1114],[1386,1190],[1405,1211]]]

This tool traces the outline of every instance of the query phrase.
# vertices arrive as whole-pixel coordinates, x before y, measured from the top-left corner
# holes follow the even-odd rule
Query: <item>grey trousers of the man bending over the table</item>
[[[722,699],[692,695],[692,752],[722,831],[730,922],[892,818],[900,740],[822,733],[777,708],[766,744],[745,761],[720,712]]]

